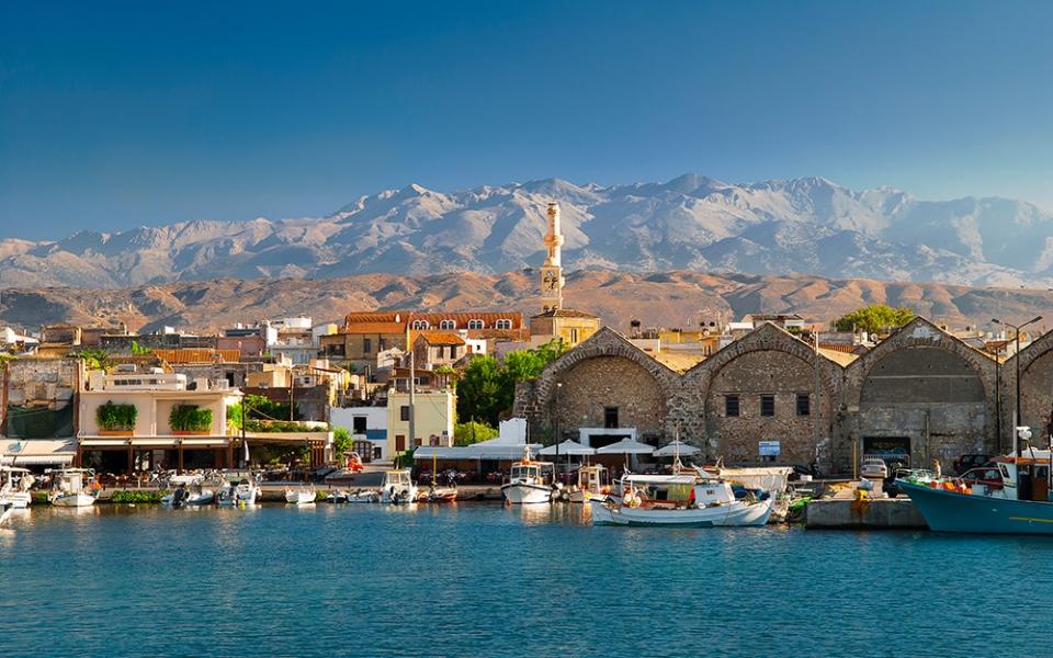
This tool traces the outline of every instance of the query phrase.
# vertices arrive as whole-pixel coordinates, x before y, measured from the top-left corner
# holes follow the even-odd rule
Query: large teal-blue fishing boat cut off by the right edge
[[[910,470],[896,486],[937,532],[1053,535],[1051,460],[1028,447],[956,477]]]

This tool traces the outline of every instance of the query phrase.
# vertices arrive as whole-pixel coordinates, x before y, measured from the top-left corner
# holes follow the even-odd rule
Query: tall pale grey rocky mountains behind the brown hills
[[[55,241],[0,241],[0,285],[120,287],[367,273],[499,274],[543,260],[557,201],[568,270],[1053,286],[1053,214],[1021,201],[922,201],[823,178],[576,185],[558,179],[456,192],[411,184],[326,217],[194,220]]]

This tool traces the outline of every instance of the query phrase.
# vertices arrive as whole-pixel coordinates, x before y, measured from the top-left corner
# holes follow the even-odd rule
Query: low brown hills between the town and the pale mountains
[[[220,279],[122,288],[7,288],[0,326],[36,329],[76,322],[132,330],[162,326],[213,332],[235,322],[291,315],[339,321],[351,310],[539,310],[536,271],[502,274],[359,274],[326,280]],[[825,322],[867,304],[909,306],[953,326],[990,328],[993,317],[1022,320],[1053,309],[1053,292],[970,288],[938,283],[888,283],[819,276],[765,276],[578,270],[567,275],[566,304],[599,315],[623,332],[644,327],[690,329],[702,320],[748,313],[800,313]],[[1041,328],[1044,331],[1044,328]]]

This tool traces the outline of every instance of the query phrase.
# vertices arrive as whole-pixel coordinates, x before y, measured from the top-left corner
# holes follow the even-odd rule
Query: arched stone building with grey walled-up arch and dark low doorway
[[[853,444],[917,467],[990,453],[996,395],[992,356],[915,318],[845,370],[835,464],[851,469]]]

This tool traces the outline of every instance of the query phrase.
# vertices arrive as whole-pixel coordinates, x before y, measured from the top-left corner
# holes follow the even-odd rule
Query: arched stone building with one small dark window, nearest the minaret
[[[577,441],[584,428],[593,447],[626,435],[657,442],[678,386],[677,373],[604,327],[521,383],[514,413],[528,418],[535,436],[556,431]]]

